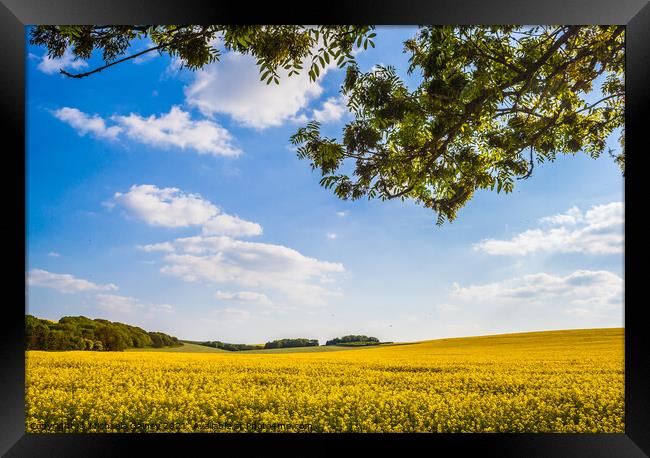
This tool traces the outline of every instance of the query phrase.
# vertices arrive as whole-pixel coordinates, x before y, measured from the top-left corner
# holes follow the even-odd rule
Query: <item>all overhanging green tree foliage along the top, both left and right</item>
[[[453,220],[477,190],[512,192],[535,163],[583,151],[593,158],[620,129],[624,171],[624,26],[425,26],[404,43],[409,89],[395,68],[362,72],[354,46],[375,46],[372,26],[38,26],[33,44],[51,57],[70,47],[106,65],[167,52],[190,69],[219,60],[215,45],[257,59],[260,78],[279,82],[303,71],[316,80],[331,61],[346,68],[341,87],[354,119],[341,139],[309,122],[291,137],[298,157],[341,199],[412,199]],[[123,56],[136,38],[150,49]],[[119,58],[119,59],[118,59]],[[600,87],[594,81],[601,77]],[[600,93],[597,100],[587,95]],[[351,165],[351,173],[344,173]]]

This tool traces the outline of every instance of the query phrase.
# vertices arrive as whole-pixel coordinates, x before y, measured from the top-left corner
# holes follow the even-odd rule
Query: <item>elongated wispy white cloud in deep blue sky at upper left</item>
[[[107,120],[70,107],[53,112],[61,121],[70,124],[79,135],[88,132],[97,137],[116,139],[125,135],[131,140],[160,148],[191,149],[199,154],[235,157],[241,150],[233,146],[233,137],[226,129],[208,119],[192,119],[190,114],[178,106],[169,113],[143,117],[136,113],[128,116],[113,115],[114,125],[108,127]]]

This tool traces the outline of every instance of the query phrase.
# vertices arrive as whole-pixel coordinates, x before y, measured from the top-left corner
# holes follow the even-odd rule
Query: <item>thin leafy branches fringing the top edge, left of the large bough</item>
[[[66,49],[76,58],[86,60],[93,51],[101,52],[103,66],[74,74],[61,69],[62,74],[71,78],[85,78],[150,52],[178,57],[183,66],[196,70],[219,60],[218,44],[222,42],[229,51],[252,55],[257,59],[261,79],[267,84],[279,84],[280,68],[292,76],[303,70],[305,60],[309,60],[312,81],[330,62],[336,62],[339,67],[353,62],[354,45],[374,46],[375,33],[370,26],[47,25],[33,27],[30,35],[30,42],[46,46],[51,58],[63,56]],[[144,38],[152,46],[124,56],[134,40]]]

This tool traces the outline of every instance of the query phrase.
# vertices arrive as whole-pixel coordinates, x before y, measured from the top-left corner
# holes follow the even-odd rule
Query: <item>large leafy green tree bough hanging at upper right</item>
[[[405,43],[410,91],[393,67],[347,69],[355,120],[342,141],[317,122],[292,141],[343,199],[411,198],[453,220],[478,189],[506,193],[535,160],[598,157],[624,123],[623,27],[425,27]],[[602,98],[584,99],[607,77]],[[623,137],[621,136],[621,142]],[[339,173],[346,159],[351,176]],[[616,156],[621,167],[624,156]]]

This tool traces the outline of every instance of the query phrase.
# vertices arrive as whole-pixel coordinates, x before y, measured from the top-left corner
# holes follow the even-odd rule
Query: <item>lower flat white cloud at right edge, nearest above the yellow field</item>
[[[466,287],[454,283],[450,298],[469,303],[553,303],[613,309],[622,305],[623,279],[603,270],[577,270],[566,276],[537,273]]]

